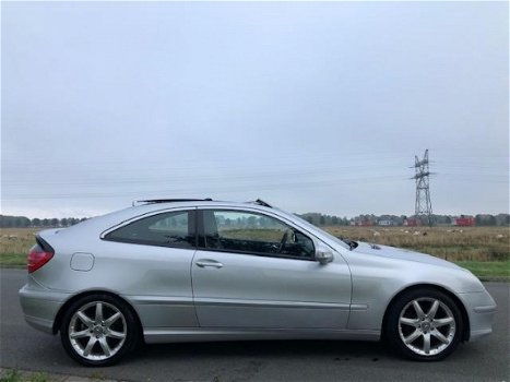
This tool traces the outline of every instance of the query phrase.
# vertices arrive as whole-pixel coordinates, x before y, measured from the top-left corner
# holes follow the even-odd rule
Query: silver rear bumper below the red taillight
[[[68,294],[33,288],[28,284],[20,289],[20,303],[25,321],[33,327],[54,333],[54,322]]]

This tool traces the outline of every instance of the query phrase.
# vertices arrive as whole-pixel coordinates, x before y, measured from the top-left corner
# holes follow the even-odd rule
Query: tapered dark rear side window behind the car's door
[[[175,248],[195,247],[194,211],[144,217],[105,236],[105,240]]]

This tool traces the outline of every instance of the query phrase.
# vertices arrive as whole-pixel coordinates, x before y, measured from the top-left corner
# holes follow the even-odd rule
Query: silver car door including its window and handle
[[[320,264],[309,234],[245,210],[199,210],[191,266],[204,327],[345,327],[351,274],[342,256]]]

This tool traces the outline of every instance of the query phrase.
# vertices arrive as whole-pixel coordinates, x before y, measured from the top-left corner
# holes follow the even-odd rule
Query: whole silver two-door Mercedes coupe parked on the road
[[[85,366],[142,341],[306,338],[383,338],[432,361],[491,333],[496,311],[466,270],[333,237],[260,200],[150,200],[44,230],[20,301]]]

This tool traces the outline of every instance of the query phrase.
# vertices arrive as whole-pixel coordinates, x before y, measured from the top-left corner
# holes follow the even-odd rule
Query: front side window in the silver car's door
[[[207,249],[312,260],[313,241],[270,216],[237,211],[203,211]]]

